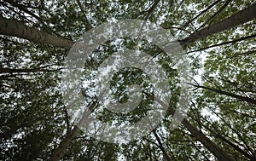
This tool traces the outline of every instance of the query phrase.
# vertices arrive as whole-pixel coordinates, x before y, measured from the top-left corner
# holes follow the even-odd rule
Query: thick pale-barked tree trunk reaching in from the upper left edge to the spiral
[[[48,33],[40,32],[37,29],[26,26],[16,20],[9,20],[0,15],[0,34],[25,38],[33,43],[50,44],[62,48],[71,48],[72,40],[63,37],[55,37]]]

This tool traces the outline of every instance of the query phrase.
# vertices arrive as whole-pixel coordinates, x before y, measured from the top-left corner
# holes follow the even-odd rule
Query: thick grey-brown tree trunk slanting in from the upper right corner
[[[194,32],[189,37],[184,38],[183,40],[179,41],[182,46],[185,46],[189,43],[193,43],[202,37],[210,36],[214,33],[224,32],[232,27],[239,26],[244,24],[248,21],[254,20],[256,18],[256,3],[253,3],[252,6],[248,7],[247,9],[243,9],[240,12],[231,15],[229,18],[224,19],[212,26],[207,26],[201,29],[198,32]]]

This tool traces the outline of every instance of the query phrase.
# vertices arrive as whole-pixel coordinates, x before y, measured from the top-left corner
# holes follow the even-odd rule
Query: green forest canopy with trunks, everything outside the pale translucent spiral
[[[251,0],[0,2],[0,160],[255,160],[256,4]],[[154,103],[151,79],[123,68],[110,81],[113,98],[136,109],[116,113],[99,103],[96,71],[119,50],[150,55],[166,72],[170,106],[147,135],[129,143],[96,140],[74,124],[61,92],[65,59],[85,32],[115,20],[148,20],[168,30],[189,60],[187,116],[172,129],[181,80],[172,58],[144,39],[102,43],[84,62],[81,91],[102,122],[133,124]],[[138,59],[137,57],[134,58]],[[161,101],[159,101],[161,104]]]

